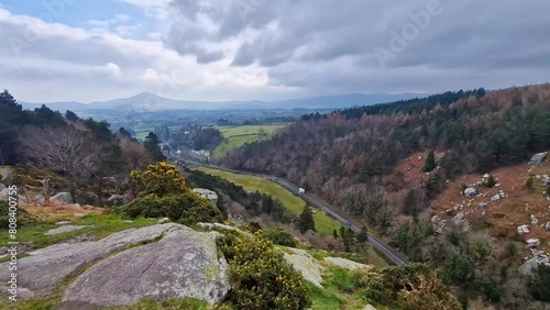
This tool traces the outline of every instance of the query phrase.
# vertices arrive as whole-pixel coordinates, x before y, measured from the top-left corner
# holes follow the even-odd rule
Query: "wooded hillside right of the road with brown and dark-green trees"
[[[463,305],[519,309],[543,307],[527,300],[538,296],[530,266],[544,273],[549,257],[548,163],[528,162],[549,150],[550,85],[537,85],[305,115],[223,164],[287,178],[355,214],[440,269]]]

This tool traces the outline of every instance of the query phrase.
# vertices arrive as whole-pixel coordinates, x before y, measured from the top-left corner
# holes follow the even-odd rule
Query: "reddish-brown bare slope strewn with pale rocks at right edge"
[[[480,181],[486,180],[484,175],[464,175],[454,179],[448,185],[431,203],[432,214],[438,214],[442,219],[452,220],[458,212],[464,213],[474,229],[488,228],[495,236],[509,240],[524,241],[528,239],[539,239],[541,246],[539,250],[550,250],[550,232],[544,229],[550,222],[550,199],[543,192],[546,186],[536,179],[537,175],[550,175],[550,162],[544,162],[539,166],[526,164],[499,168],[491,171],[491,176],[496,178],[498,187],[488,188]],[[534,177],[534,189],[526,187],[529,177]],[[476,189],[476,196],[469,198],[462,195],[463,187]],[[504,192],[505,197],[498,201],[493,201],[493,197]],[[486,207],[480,207],[486,203]],[[535,215],[538,224],[532,224],[530,215]],[[519,235],[517,226],[529,225],[529,233]]]

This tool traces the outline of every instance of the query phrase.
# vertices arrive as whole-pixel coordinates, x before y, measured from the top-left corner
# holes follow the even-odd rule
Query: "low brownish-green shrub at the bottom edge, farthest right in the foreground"
[[[361,270],[354,281],[365,288],[369,300],[392,309],[461,309],[437,274],[422,264]]]

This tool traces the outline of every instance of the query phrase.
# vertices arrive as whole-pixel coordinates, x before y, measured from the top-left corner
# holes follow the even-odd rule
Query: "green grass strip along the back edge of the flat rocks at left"
[[[128,223],[125,220],[128,219],[113,213],[90,214],[80,220],[74,221],[70,224],[94,225],[92,228],[85,228],[54,235],[44,235],[46,231],[57,228],[57,225],[53,223],[40,223],[36,225],[22,226],[18,229],[18,241],[33,242],[35,248],[41,248],[81,234],[88,234],[97,239],[101,239],[114,232],[156,224],[156,220],[135,219],[132,223]],[[4,231],[0,232],[0,244],[8,244],[10,241],[9,234],[4,233]]]

